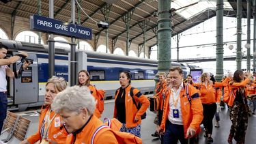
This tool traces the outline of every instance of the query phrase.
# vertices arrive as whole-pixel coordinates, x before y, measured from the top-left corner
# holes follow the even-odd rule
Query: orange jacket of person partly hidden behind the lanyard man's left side
[[[163,81],[162,85],[160,84],[160,82],[156,83],[156,89],[155,89],[155,96],[159,97],[159,107],[160,110],[163,109],[164,107],[164,101],[162,100],[162,92],[167,88],[167,81]]]

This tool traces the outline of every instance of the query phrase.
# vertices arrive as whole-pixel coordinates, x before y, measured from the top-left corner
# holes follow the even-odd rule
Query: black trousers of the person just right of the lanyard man
[[[212,119],[216,113],[216,108],[216,103],[203,104],[203,126],[205,128],[205,134],[212,134]]]

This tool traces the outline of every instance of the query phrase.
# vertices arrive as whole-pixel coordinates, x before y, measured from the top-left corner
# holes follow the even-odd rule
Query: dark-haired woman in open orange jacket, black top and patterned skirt
[[[122,122],[123,126],[120,131],[130,132],[135,136],[141,137],[141,115],[147,111],[147,107],[150,105],[150,101],[147,100],[139,89],[133,89],[130,72],[121,72],[119,75],[119,82],[121,87],[115,91],[115,108],[114,118]],[[134,104],[132,96],[133,93]],[[141,103],[141,108],[137,109],[137,106]]]

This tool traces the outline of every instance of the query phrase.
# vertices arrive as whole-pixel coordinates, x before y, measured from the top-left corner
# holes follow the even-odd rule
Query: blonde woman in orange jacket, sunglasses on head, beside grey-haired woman
[[[44,105],[39,117],[38,132],[29,136],[28,139],[20,144],[29,144],[40,141],[41,143],[65,143],[68,132],[61,124],[61,117],[51,109],[53,99],[60,91],[66,89],[65,78],[53,76],[46,83],[44,95]]]

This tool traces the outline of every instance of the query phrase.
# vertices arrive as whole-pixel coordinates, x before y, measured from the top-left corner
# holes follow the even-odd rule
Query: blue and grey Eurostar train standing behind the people
[[[1,40],[8,46],[8,57],[21,51],[29,54],[33,64],[25,70],[20,78],[8,78],[8,109],[25,111],[28,107],[41,106],[44,103],[45,84],[48,80],[48,45],[31,44],[14,40]],[[68,48],[55,46],[55,76],[62,76],[69,81],[68,76]],[[155,75],[158,72],[158,61],[127,57],[93,51],[79,51],[86,54],[83,63],[90,74],[91,84],[97,89],[106,91],[106,99],[112,99],[119,85],[119,72],[129,71],[132,75],[132,86],[142,93],[153,93]],[[20,61],[15,63],[20,66]],[[190,69],[197,67],[184,63],[171,62],[171,66],[180,66],[186,77]],[[10,65],[10,68],[13,66]],[[77,79],[77,78],[76,78]],[[77,80],[76,80],[77,81]]]

